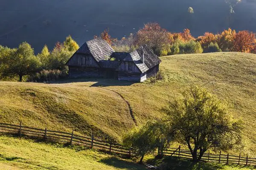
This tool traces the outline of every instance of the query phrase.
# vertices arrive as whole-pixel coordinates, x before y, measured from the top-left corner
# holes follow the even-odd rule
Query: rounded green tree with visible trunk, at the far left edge
[[[3,77],[19,76],[19,81],[25,75],[31,75],[40,70],[40,59],[35,56],[34,49],[27,42],[23,42],[17,49],[8,49],[1,57]]]

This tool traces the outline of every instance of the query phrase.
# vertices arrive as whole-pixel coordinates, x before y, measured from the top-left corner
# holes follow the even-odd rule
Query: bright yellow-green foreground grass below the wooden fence
[[[83,147],[63,146],[0,136],[1,170],[146,170],[133,160],[122,159]],[[193,163],[170,157],[163,160],[148,159],[147,163],[166,162],[170,170],[252,170],[238,165]]]

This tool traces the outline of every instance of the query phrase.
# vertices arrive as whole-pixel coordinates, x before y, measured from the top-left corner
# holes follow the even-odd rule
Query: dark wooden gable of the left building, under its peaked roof
[[[67,62],[67,65],[99,68],[99,64],[96,62],[93,56],[82,53],[75,53]]]

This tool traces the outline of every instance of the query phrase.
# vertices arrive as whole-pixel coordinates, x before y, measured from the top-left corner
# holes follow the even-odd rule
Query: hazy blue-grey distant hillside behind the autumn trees
[[[29,42],[35,52],[53,48],[67,35],[82,45],[109,28],[112,37],[138,31],[157,22],[172,32],[189,28],[197,37],[231,27],[256,32],[256,1],[241,0],[230,14],[225,0],[1,0],[0,45]],[[188,13],[188,8],[194,14]]]

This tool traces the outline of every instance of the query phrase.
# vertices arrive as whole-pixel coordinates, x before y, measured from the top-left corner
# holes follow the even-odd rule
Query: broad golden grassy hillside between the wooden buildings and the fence
[[[203,85],[233,105],[245,122],[250,154],[256,153],[256,55],[186,54],[161,57],[164,80],[134,83],[71,79],[58,84],[0,82],[0,121],[120,140],[138,124],[163,116],[161,109],[183,88]],[[127,101],[127,102],[126,102]]]

